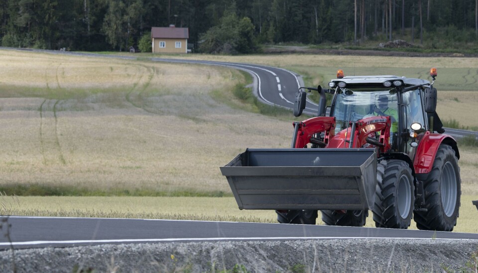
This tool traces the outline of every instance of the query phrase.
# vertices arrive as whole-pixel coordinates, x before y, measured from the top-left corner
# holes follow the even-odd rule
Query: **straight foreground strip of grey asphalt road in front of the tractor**
[[[101,244],[371,238],[478,242],[478,234],[470,233],[264,223],[15,216],[0,217],[0,223],[3,226],[0,250],[11,247],[21,249]],[[10,225],[9,232],[6,225]]]

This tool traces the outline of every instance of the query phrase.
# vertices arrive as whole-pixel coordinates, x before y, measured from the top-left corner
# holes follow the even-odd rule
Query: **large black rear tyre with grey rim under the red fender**
[[[423,181],[426,212],[415,212],[421,230],[453,231],[460,209],[461,178],[458,158],[449,145],[438,148],[432,171]]]

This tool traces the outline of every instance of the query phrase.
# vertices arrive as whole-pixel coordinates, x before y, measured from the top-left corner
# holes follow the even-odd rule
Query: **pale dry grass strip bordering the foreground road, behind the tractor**
[[[476,195],[462,195],[454,232],[478,233]],[[191,206],[194,204],[194,206]],[[0,196],[0,215],[277,223],[273,210],[239,210],[234,197]],[[370,212],[365,227],[375,227]],[[318,225],[324,225],[319,218]],[[409,229],[416,230],[412,221]]]

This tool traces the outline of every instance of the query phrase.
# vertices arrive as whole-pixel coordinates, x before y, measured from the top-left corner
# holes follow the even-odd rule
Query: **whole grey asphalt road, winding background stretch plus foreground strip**
[[[11,48],[0,48],[12,50]],[[136,59],[128,56],[41,51],[52,54],[73,54],[103,58]],[[151,58],[152,61],[221,65],[247,71],[254,77],[254,88],[265,103],[291,108],[299,86],[299,75],[281,68],[243,63]],[[309,102],[306,113],[317,113],[317,104]],[[477,132],[446,129],[455,137],[478,136]],[[292,133],[292,132],[291,132]],[[260,223],[228,223],[200,221],[168,221],[141,219],[0,217],[0,249],[46,246],[78,246],[120,243],[188,242],[221,240],[306,240],[350,238],[421,238],[430,240],[478,240],[478,234],[447,233],[417,230],[329,227]],[[8,229],[8,225],[11,228]],[[8,236],[6,236],[8,235]]]

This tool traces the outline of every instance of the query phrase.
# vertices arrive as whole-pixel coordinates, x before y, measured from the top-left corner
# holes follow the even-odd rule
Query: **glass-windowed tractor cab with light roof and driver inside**
[[[424,90],[430,87],[429,81],[393,75],[348,76],[332,80],[329,87],[334,94],[330,116],[336,118],[336,135],[347,130],[351,122],[389,116],[390,151],[414,157],[419,136],[429,131],[422,104]],[[416,131],[411,128],[412,125]]]

